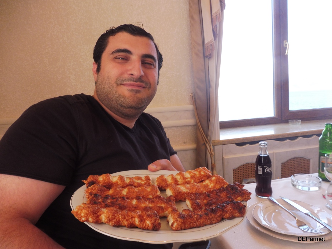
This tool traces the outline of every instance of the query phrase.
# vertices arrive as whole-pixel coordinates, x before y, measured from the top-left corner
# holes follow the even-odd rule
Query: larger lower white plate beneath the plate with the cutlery
[[[317,242],[318,238],[322,238],[325,240],[331,239],[332,238],[332,233],[328,233],[326,235],[320,235],[320,236],[310,236],[310,238],[312,238],[312,240],[299,240],[297,236],[293,236],[293,235],[287,235],[287,234],[282,234],[282,233],[278,233],[278,232],[274,232],[270,229],[265,228],[264,226],[260,225],[254,218],[253,216],[253,209],[254,209],[255,205],[251,205],[250,207],[248,207],[247,210],[247,214],[246,217],[248,219],[248,221],[250,222],[250,224],[255,227],[256,229],[258,229],[259,231],[268,234],[272,237],[278,238],[278,239],[283,239],[283,240],[289,240],[289,241],[293,241],[293,242],[299,242],[299,243],[314,243]],[[317,238],[317,239],[316,239]]]

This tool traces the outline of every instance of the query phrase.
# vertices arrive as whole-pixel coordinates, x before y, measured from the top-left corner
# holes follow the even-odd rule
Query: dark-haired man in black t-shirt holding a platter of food
[[[42,101],[0,141],[0,248],[171,248],[115,239],[79,222],[69,205],[89,175],[185,171],[160,122],[143,113],[162,55],[140,27],[111,28],[94,48],[93,96]]]

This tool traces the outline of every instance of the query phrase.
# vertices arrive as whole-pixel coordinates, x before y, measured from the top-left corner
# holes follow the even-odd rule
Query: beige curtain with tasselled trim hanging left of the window
[[[218,85],[224,0],[190,0],[190,27],[197,118],[197,167],[215,173],[211,141],[219,139]]]

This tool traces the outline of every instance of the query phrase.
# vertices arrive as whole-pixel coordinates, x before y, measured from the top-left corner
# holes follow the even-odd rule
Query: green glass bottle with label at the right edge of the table
[[[325,154],[332,152],[332,124],[325,124],[322,135],[318,140],[319,144],[319,158],[318,158],[318,176],[326,182],[329,180],[324,175]]]

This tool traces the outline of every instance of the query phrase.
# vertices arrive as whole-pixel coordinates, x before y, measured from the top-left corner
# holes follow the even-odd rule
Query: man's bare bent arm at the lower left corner
[[[65,186],[0,174],[0,248],[62,248],[35,224]]]

